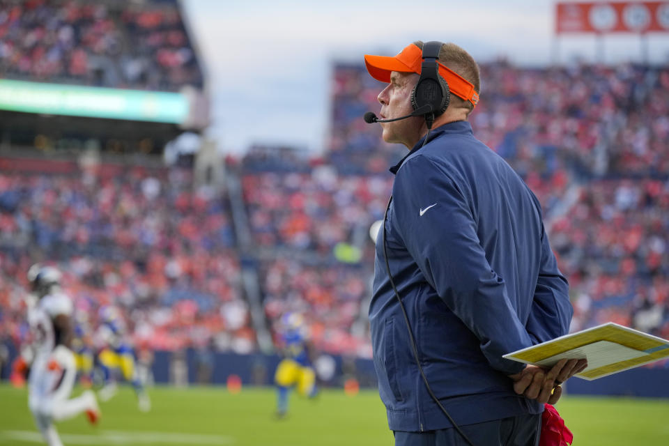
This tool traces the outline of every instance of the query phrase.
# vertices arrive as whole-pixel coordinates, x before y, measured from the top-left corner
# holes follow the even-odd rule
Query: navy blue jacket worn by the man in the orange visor
[[[466,121],[433,130],[396,166],[385,229],[390,271],[436,397],[458,424],[541,413],[502,355],[569,330],[568,284],[541,206]],[[380,397],[394,431],[451,427],[429,396],[376,239],[369,307]]]

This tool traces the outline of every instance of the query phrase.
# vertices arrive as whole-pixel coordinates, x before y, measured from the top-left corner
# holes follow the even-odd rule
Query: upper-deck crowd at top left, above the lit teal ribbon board
[[[203,82],[168,0],[1,0],[0,77],[159,91]]]

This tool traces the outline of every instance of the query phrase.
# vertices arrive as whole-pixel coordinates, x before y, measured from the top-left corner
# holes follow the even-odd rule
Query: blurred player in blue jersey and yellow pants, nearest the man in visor
[[[303,318],[297,313],[286,313],[281,321],[281,340],[284,359],[279,362],[274,376],[277,385],[277,417],[288,411],[291,387],[309,398],[316,396],[316,373],[312,367],[311,344],[307,339]]]

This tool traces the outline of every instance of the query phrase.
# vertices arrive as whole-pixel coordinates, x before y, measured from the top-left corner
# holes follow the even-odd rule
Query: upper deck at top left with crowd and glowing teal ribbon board
[[[0,141],[160,154],[209,122],[177,0],[0,0]]]

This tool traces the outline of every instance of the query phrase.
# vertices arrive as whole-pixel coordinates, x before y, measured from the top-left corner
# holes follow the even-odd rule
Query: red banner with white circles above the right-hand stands
[[[555,33],[669,33],[669,1],[555,4]]]

